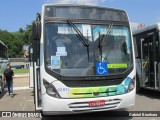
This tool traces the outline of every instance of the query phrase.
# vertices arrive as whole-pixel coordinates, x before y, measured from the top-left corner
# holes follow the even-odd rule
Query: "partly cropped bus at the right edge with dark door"
[[[137,43],[137,92],[140,88],[160,91],[160,23],[133,31]]]

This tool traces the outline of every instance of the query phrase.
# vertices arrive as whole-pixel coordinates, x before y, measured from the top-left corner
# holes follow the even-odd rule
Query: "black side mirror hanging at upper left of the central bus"
[[[32,23],[32,39],[40,40],[41,38],[41,17],[40,14],[37,13],[36,21]]]

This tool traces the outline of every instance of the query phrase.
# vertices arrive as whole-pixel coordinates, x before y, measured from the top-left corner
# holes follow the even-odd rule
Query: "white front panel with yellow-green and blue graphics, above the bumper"
[[[128,78],[131,79],[136,79],[135,78],[135,67],[133,68],[132,72],[127,76]],[[123,89],[123,87],[125,87],[126,85],[123,85],[125,79],[122,81],[121,84],[119,85],[112,85],[112,86],[96,86],[96,87],[68,87],[65,84],[63,84],[61,81],[55,79],[54,77],[46,74],[45,69],[43,68],[43,66],[41,67],[41,81],[43,80],[47,80],[50,84],[52,84],[55,89],[57,90],[58,94],[61,96],[62,99],[70,99],[70,98],[96,98],[96,96],[93,95],[94,92],[105,92],[107,89],[119,89],[119,91],[117,90],[115,93],[112,93],[111,95],[107,95],[107,97],[113,96],[113,95],[119,95],[119,94],[127,94],[127,92]],[[43,82],[42,82],[43,83]],[[41,84],[41,92],[42,94],[46,94],[46,88],[44,87],[43,84]],[[118,92],[118,93],[117,93]],[[74,93],[84,93],[81,95],[74,95]],[[88,93],[92,93],[90,95],[85,95]],[[106,96],[105,94],[99,94],[100,96]]]

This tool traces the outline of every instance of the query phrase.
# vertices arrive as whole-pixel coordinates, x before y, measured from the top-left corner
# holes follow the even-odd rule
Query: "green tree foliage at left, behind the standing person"
[[[8,57],[22,57],[23,45],[31,44],[32,25],[26,25],[26,29],[19,28],[17,32],[8,32],[0,29],[0,40],[8,47]]]

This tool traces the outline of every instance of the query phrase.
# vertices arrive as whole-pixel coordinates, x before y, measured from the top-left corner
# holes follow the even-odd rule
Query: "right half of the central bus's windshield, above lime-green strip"
[[[107,74],[122,73],[132,64],[131,38],[127,27],[94,25],[93,39],[95,59],[106,62]]]

